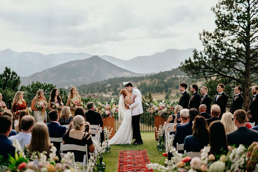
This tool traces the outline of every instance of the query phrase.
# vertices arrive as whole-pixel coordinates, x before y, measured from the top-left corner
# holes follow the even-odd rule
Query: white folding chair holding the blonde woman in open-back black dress
[[[60,150],[61,153],[63,153],[63,151],[71,151],[72,150],[78,150],[78,151],[85,151],[86,154],[84,154],[83,156],[83,162],[79,162],[83,165],[83,171],[85,170],[85,165],[88,164],[88,147],[87,144],[85,146],[80,146],[77,144],[60,144]]]

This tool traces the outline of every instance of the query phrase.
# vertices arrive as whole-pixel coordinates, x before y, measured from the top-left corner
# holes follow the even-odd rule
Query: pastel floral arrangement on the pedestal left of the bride
[[[102,117],[113,117],[118,116],[118,106],[115,105],[114,98],[111,99],[111,102],[106,102],[102,104],[101,102],[97,101],[98,107],[96,108],[96,112],[99,112]]]

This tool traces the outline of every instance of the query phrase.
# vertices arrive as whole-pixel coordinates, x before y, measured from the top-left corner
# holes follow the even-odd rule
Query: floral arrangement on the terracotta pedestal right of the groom
[[[156,99],[153,99],[153,103],[145,103],[148,107],[147,112],[150,113],[150,116],[162,116],[167,117],[169,116],[173,111],[174,107],[178,104],[176,97],[172,97],[170,100],[163,100],[161,102],[156,101]]]

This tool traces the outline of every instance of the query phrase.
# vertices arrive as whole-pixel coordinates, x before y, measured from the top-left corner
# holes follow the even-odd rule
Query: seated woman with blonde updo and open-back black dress
[[[81,115],[77,115],[73,118],[72,122],[73,129],[68,129],[63,136],[63,144],[77,144],[81,146],[88,146],[88,159],[90,158],[89,153],[93,153],[95,147],[91,140],[91,135],[85,130],[85,119]],[[84,151],[73,150],[75,161],[83,162]]]

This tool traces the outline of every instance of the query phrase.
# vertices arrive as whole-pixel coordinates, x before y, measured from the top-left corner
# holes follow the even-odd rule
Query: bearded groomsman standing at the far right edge
[[[250,117],[250,122],[255,122],[255,125],[258,125],[258,86],[255,85],[252,87],[251,103],[249,106],[249,111],[247,114]]]

